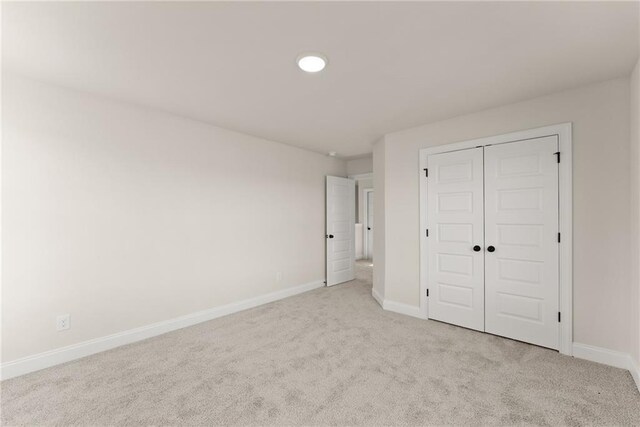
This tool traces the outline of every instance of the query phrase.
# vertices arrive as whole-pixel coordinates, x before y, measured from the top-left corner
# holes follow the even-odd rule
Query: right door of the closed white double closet
[[[556,136],[485,148],[486,332],[558,348]]]

